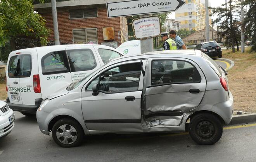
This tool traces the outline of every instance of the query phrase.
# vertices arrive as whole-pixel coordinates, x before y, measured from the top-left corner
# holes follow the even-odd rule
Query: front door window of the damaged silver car
[[[92,90],[92,86],[97,83],[99,90],[106,93],[138,90],[140,74],[140,63],[120,65],[100,74],[87,86],[86,90]]]

